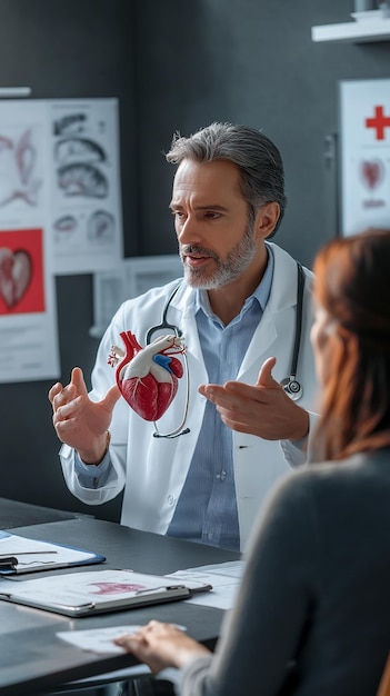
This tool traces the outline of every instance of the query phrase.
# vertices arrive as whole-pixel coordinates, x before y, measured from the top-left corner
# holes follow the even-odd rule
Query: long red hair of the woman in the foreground
[[[332,319],[314,460],[390,445],[390,230],[329,242],[314,299]]]

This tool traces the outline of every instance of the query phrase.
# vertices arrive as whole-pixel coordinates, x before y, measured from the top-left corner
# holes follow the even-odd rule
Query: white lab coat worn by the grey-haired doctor
[[[237,379],[254,384],[262,362],[276,356],[273,377],[281,381],[290,375],[297,308],[297,264],[278,246],[272,245],[274,274],[270,297],[259,326],[244,356]],[[303,300],[302,340],[298,379],[303,387],[299,405],[311,411],[317,396],[313,356],[309,341],[311,325],[311,274]],[[91,398],[101,399],[114,384],[114,369],[108,362],[111,345],[122,346],[120,332],[131,330],[144,345],[148,329],[161,321],[168,297],[179,281],[153,288],[123,302],[107,329],[92,372]],[[190,397],[186,427],[190,432],[174,439],[153,437],[153,425],[138,416],[120,398],[113,411],[110,455],[112,469],[104,487],[86,488],[74,471],[74,453],[61,448],[61,464],[69,489],[83,503],[97,505],[114,498],[124,487],[121,523],[138,529],[164,534],[186,481],[206,405],[198,385],[208,381],[194,318],[194,290],[182,282],[174,296],[168,320],[182,330],[187,345]],[[164,331],[166,334],[169,331]],[[156,336],[154,336],[156,337]],[[153,338],[154,338],[153,337]],[[184,409],[184,378],[173,402],[159,420],[161,432],[180,424]],[[281,446],[282,445],[282,446]],[[212,447],[212,443],[210,443]],[[291,443],[268,441],[233,431],[233,460],[241,548],[244,548],[256,516],[274,481],[304,460]],[[126,485],[126,486],[124,486]]]

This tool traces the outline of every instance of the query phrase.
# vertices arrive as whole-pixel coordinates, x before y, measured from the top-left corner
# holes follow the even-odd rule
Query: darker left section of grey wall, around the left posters
[[[133,230],[137,172],[133,167],[132,4],[126,0],[1,0],[0,86],[29,86],[32,98],[118,97],[127,252],[139,253]],[[97,341],[92,279],[57,279],[61,380],[80,365],[89,376]],[[59,441],[47,394],[53,380],[0,385],[0,496],[94,513],[71,496],[59,467]],[[117,518],[119,501],[99,509]]]

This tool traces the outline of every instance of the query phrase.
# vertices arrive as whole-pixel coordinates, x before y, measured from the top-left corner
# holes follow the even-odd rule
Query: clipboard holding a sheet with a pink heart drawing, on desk
[[[189,599],[211,589],[202,583],[187,586],[132,570],[91,570],[30,580],[0,578],[0,600],[73,618]]]

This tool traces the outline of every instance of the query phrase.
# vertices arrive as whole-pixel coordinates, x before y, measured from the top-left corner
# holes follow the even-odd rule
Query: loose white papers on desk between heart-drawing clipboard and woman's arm
[[[180,579],[189,585],[191,581],[210,584],[212,586],[211,591],[197,594],[186,601],[216,607],[217,609],[231,609],[240,586],[243,568],[243,560],[231,560],[177,570],[166,577]]]

